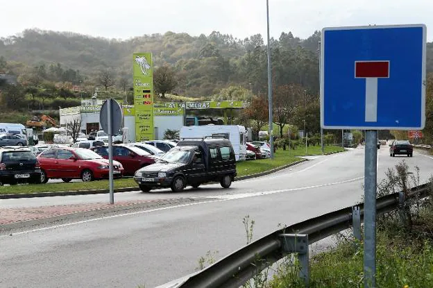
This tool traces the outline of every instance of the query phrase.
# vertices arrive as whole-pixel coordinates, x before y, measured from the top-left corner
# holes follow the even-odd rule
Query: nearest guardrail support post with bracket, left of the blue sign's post
[[[300,264],[299,277],[303,278],[308,287],[309,282],[309,251],[308,235],[306,234],[282,234],[281,249],[284,253],[297,253]]]

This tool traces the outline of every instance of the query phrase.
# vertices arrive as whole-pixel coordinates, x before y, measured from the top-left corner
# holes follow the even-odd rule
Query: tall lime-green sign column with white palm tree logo
[[[133,54],[135,141],[153,140],[153,63],[151,53]]]

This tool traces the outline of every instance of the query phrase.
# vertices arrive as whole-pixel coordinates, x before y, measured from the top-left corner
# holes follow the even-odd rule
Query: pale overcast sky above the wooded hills
[[[291,31],[306,38],[325,26],[426,24],[433,40],[432,0],[269,0],[269,6],[271,37]],[[0,19],[0,37],[40,28],[121,39],[167,31],[266,38],[266,0],[0,0]]]

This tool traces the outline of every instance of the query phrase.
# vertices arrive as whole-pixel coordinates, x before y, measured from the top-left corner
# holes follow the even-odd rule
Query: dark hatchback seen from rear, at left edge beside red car
[[[27,148],[0,149],[0,185],[19,182],[41,183],[40,164]]]

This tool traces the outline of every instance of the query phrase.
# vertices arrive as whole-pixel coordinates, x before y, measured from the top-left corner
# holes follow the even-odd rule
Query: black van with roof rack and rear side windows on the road
[[[183,140],[158,162],[135,172],[134,180],[143,192],[155,187],[182,191],[187,185],[219,182],[232,185],[236,176],[235,151],[228,139]]]

